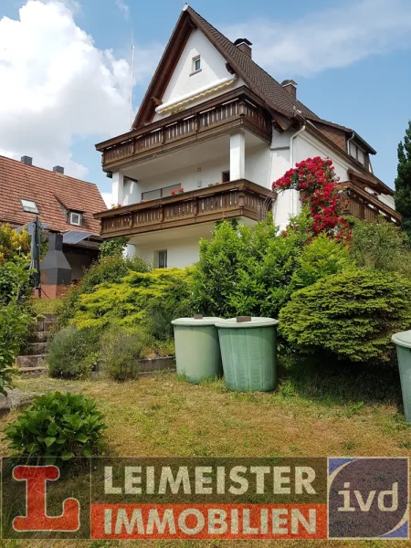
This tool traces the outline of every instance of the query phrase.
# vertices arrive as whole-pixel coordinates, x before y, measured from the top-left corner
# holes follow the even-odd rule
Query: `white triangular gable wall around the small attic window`
[[[193,58],[197,56],[201,57],[201,70],[193,74]],[[227,71],[226,62],[226,59],[220,55],[204,34],[200,30],[194,30],[185,44],[173,76],[163,94],[163,103],[179,100],[188,94],[195,93],[195,90],[202,90],[220,80],[232,78],[232,75]],[[190,101],[187,103],[187,108],[243,85],[242,79],[235,79],[229,86],[214,93],[206,93],[198,100]],[[155,114],[153,120],[161,120],[166,115]]]

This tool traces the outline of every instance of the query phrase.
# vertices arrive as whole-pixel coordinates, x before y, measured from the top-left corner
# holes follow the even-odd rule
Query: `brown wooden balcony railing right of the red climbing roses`
[[[348,211],[365,221],[374,221],[378,216],[385,216],[387,221],[395,225],[401,225],[402,216],[389,205],[381,202],[376,196],[368,193],[358,184],[349,181],[342,183],[342,187],[348,196]]]

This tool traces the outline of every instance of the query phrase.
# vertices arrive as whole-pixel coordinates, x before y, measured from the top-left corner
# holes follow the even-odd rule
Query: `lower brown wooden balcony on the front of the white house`
[[[132,236],[164,228],[185,227],[245,216],[259,221],[271,209],[271,192],[245,179],[193,192],[124,205],[95,214],[101,237]]]

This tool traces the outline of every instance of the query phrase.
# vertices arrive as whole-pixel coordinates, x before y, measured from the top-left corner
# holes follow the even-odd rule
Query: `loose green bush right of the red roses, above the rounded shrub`
[[[400,272],[411,278],[411,252],[406,233],[379,217],[369,223],[352,219],[350,253],[357,266]]]

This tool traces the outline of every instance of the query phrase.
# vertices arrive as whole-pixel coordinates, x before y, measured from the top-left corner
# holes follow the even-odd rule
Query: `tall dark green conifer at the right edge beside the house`
[[[395,207],[403,216],[403,229],[411,239],[411,121],[408,121],[404,142],[398,144]]]

